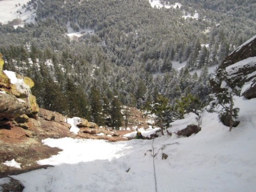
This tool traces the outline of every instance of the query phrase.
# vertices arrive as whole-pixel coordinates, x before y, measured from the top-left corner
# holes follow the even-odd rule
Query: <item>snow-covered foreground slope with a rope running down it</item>
[[[240,124],[231,132],[217,114],[205,111],[201,131],[191,137],[173,134],[115,143],[46,139],[45,145],[63,151],[38,163],[55,167],[11,177],[23,183],[24,192],[254,192],[256,99],[236,97],[235,105]],[[169,131],[193,118],[173,123]]]

